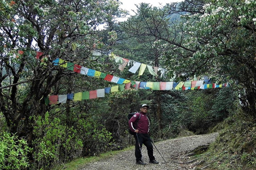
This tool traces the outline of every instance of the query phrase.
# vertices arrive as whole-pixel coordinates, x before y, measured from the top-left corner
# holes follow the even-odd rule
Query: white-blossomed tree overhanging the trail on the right
[[[151,15],[151,20],[138,25],[127,23],[125,29],[131,35],[165,41],[169,50],[163,60],[180,80],[208,75],[217,83],[229,82],[239,91],[245,113],[256,118],[255,5],[255,1],[187,0],[165,6],[161,15]],[[181,14],[182,21],[170,22],[172,13]]]

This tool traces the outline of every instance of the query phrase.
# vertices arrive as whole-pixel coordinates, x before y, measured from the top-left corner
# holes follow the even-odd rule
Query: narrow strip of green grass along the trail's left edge
[[[131,150],[133,149],[134,146],[125,148],[123,150],[116,150],[116,151],[109,151],[104,154],[101,154],[100,156],[91,156],[91,157],[85,157],[85,158],[78,158],[75,159],[67,164],[62,164],[62,165],[56,165],[52,170],[61,170],[61,169],[66,169],[66,170],[76,170],[79,168],[82,168],[86,164],[89,164],[91,162],[97,162],[102,159],[109,158],[111,156],[117,155],[120,152],[126,151],[126,150]]]

